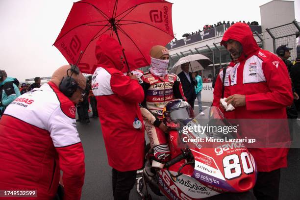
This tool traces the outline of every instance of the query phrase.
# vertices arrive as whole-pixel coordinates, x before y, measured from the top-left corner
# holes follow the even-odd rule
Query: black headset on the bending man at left
[[[70,70],[71,75],[69,75]],[[72,77],[73,73],[79,75],[79,68],[76,65],[71,65],[71,68],[67,70],[67,77],[63,77],[59,84],[59,90],[67,97],[72,97],[78,87],[78,83]]]

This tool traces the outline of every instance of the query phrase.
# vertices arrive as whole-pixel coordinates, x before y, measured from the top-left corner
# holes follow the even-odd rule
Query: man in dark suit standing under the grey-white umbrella
[[[190,63],[181,64],[182,72],[178,74],[181,80],[184,96],[186,97],[188,103],[194,109],[194,103],[196,99],[195,87],[197,87],[196,75],[189,72]]]

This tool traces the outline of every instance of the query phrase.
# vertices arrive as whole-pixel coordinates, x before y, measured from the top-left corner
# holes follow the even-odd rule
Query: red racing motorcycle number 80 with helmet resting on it
[[[155,160],[147,145],[142,176],[137,181],[137,192],[143,200],[151,200],[147,185],[155,195],[169,200],[221,198],[225,193],[243,194],[254,187],[257,172],[253,156],[243,143],[230,142],[236,132],[225,131],[228,127],[234,130],[234,126],[221,110],[211,107],[208,118],[193,115],[193,109],[183,100],[165,106],[164,124],[171,128],[167,134],[171,159],[162,169],[151,167]]]

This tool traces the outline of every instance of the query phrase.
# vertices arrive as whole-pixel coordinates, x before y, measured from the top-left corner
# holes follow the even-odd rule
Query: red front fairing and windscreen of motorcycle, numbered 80
[[[192,177],[220,193],[250,190],[256,181],[253,156],[238,142],[237,128],[218,107],[211,107],[208,114],[208,118],[196,116],[186,125],[192,128],[179,131],[181,140],[194,155]]]

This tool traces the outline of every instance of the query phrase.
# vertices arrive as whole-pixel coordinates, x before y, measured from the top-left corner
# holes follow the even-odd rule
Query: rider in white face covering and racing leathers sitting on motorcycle
[[[165,162],[170,155],[170,149],[165,138],[167,127],[162,122],[163,108],[171,100],[186,99],[179,77],[168,73],[169,50],[160,45],[154,46],[150,50],[150,57],[149,72],[141,76],[141,85],[145,93],[141,112],[154,158],[158,162]]]

